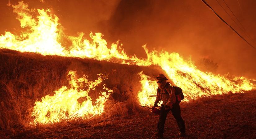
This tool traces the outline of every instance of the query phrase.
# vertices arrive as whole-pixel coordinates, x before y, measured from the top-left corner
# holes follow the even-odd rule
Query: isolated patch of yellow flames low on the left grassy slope
[[[62,86],[55,91],[55,95],[47,95],[35,103],[32,112],[33,124],[56,123],[65,119],[90,118],[100,115],[104,111],[104,103],[113,91],[103,85],[108,94],[106,91],[102,91],[99,93],[102,96],[99,96],[95,103],[92,102],[88,92],[94,90],[104,79],[107,79],[107,76],[103,74],[98,75],[97,80],[88,81],[87,76],[77,78],[76,72],[70,71],[67,75],[70,78],[70,88]],[[84,100],[79,102],[79,99]]]

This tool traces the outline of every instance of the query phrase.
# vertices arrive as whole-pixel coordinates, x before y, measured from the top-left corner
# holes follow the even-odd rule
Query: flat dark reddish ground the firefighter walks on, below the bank
[[[256,138],[256,91],[202,98],[181,104],[186,136],[181,138]],[[151,138],[154,113],[97,117],[38,128],[0,130],[1,138]],[[178,126],[168,114],[164,138],[178,138]]]

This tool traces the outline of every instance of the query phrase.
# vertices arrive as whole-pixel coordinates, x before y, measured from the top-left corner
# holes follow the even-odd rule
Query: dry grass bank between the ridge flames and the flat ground
[[[45,95],[53,95],[54,90],[68,86],[66,74],[69,70],[77,71],[78,76],[89,75],[95,80],[97,74],[109,74],[103,81],[114,90],[106,103],[106,117],[128,116],[143,110],[138,105],[137,92],[141,88],[138,72],[153,77],[159,72],[158,67],[140,67],[121,65],[92,59],[42,56],[35,53],[19,53],[13,50],[0,50],[0,128],[23,127],[32,119],[30,113],[36,100]],[[96,89],[89,93],[97,98]]]

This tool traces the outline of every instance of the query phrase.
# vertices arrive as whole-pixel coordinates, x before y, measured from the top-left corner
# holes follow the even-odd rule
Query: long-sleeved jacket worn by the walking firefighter
[[[170,86],[169,82],[161,88],[157,88],[155,103],[159,103],[162,100],[165,106],[173,107],[173,104],[176,103],[175,89]]]

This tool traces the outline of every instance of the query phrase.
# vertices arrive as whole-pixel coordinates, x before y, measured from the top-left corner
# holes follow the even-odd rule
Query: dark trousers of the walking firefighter
[[[168,114],[169,111],[170,110],[165,110],[164,105],[161,106],[160,116],[159,116],[159,120],[158,120],[158,124],[157,124],[157,129],[158,129],[159,133],[164,133],[164,123],[165,123],[165,120],[166,120],[166,117],[167,117],[167,114]],[[177,121],[177,124],[180,128],[180,132],[185,133],[185,124],[184,124],[184,121],[181,117],[180,105],[179,104],[173,104],[173,108],[171,109],[171,112],[173,114],[173,117]]]

